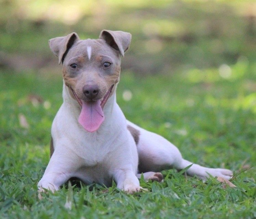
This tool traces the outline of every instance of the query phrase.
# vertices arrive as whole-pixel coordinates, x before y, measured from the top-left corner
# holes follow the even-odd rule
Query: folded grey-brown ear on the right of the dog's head
[[[108,45],[119,51],[122,56],[129,49],[131,34],[123,31],[102,30],[100,39],[104,39]]]

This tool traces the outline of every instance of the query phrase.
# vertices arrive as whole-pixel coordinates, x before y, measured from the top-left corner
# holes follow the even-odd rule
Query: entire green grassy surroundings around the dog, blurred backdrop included
[[[38,198],[62,75],[48,39],[132,33],[117,101],[185,159],[234,172],[230,187],[164,170],[132,195],[66,183]],[[255,1],[0,1],[0,219],[256,218]]]

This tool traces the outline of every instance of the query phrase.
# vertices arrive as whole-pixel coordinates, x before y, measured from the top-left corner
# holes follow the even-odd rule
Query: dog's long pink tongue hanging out
[[[79,123],[86,131],[96,131],[104,121],[104,114],[101,108],[101,101],[82,101],[82,110],[78,118]]]

